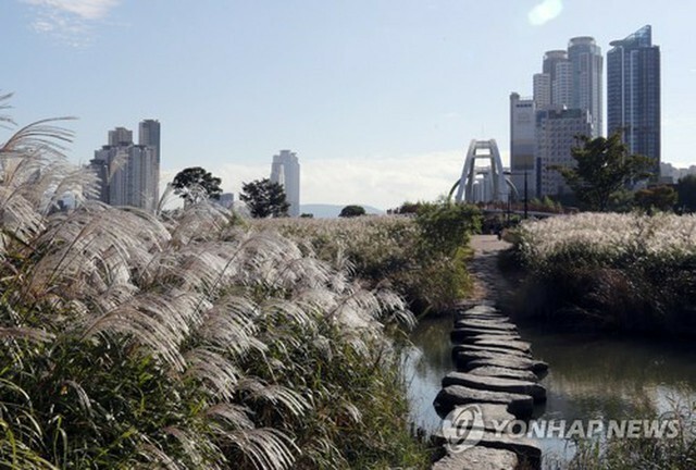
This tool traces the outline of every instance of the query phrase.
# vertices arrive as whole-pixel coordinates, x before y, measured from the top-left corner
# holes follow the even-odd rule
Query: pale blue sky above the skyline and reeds
[[[642,0],[4,0],[0,91],[18,124],[79,118],[87,162],[115,126],[162,124],[163,180],[241,182],[297,152],[301,199],[432,200],[472,138],[509,148],[511,91],[545,51],[645,24],[662,59],[662,156],[696,164],[696,2]]]

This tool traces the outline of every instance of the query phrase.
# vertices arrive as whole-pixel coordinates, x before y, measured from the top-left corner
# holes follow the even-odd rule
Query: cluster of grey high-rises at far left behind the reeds
[[[109,144],[96,150],[89,162],[100,180],[102,202],[154,211],[159,201],[159,140],[157,121],[140,123],[140,145],[133,143],[133,132],[125,127],[109,131]]]

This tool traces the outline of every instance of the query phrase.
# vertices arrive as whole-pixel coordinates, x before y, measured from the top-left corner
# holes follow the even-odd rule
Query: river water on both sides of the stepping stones
[[[440,419],[433,399],[440,381],[455,370],[451,361],[449,317],[424,319],[412,332],[407,355],[412,421],[432,433]],[[546,406],[535,419],[648,419],[670,411],[675,401],[696,401],[696,347],[693,343],[621,338],[602,334],[572,334],[519,327],[532,343],[534,357],[549,363],[540,382],[547,389]],[[650,410],[652,410],[650,412]],[[538,441],[545,467],[572,458],[574,447],[561,438]]]

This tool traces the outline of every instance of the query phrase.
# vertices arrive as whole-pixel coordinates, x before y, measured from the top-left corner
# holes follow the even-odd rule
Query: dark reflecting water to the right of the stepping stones
[[[649,419],[696,399],[696,350],[691,344],[569,334],[519,327],[534,356],[550,364],[542,381],[547,420]],[[542,440],[547,461],[572,458],[563,440]]]

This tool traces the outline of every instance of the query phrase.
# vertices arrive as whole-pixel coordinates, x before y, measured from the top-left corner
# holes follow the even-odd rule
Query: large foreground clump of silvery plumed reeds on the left
[[[395,341],[414,317],[371,264],[408,257],[409,223],[358,256],[362,221],[334,246],[212,205],[112,208],[60,121],[2,121],[1,468],[427,467]]]

